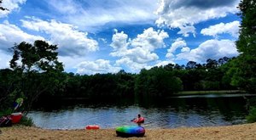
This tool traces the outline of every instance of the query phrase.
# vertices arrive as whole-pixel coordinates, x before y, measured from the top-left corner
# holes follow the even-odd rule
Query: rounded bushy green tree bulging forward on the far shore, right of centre
[[[173,71],[162,67],[141,70],[135,83],[137,96],[167,97],[183,89],[180,78],[173,76]]]

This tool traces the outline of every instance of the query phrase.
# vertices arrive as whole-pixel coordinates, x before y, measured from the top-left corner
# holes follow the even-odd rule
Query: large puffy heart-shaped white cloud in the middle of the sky
[[[110,55],[120,58],[116,61],[117,65],[125,65],[131,70],[141,70],[149,62],[159,59],[154,50],[165,48],[164,39],[167,37],[169,36],[165,31],[154,31],[152,27],[132,40],[128,39],[123,31],[116,31],[112,37],[110,46],[113,48],[113,53]]]

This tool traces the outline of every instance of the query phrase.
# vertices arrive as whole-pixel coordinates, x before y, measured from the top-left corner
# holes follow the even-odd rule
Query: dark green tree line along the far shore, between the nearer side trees
[[[231,59],[208,59],[207,64],[193,61],[185,65],[168,64],[141,70],[139,74],[118,73],[92,76],[62,73],[65,81],[49,96],[61,98],[134,98],[135,96],[168,97],[180,91],[230,90],[226,74]]]

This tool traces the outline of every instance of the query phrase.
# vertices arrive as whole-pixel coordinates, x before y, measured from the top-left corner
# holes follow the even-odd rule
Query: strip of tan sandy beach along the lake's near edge
[[[0,139],[125,139],[117,137],[114,129],[101,130],[47,130],[38,127],[12,126],[0,128],[2,134]],[[235,126],[210,126],[196,128],[176,128],[176,129],[147,129],[144,137],[129,137],[127,139],[256,139],[256,123],[235,125]]]

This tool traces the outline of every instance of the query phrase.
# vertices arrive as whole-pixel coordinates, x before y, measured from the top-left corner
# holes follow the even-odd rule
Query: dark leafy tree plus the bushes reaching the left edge
[[[44,41],[35,41],[33,45],[20,42],[11,48],[11,69],[0,73],[0,109],[11,107],[15,98],[24,98],[23,109],[29,111],[40,94],[61,87],[63,66],[57,60],[56,49]]]

